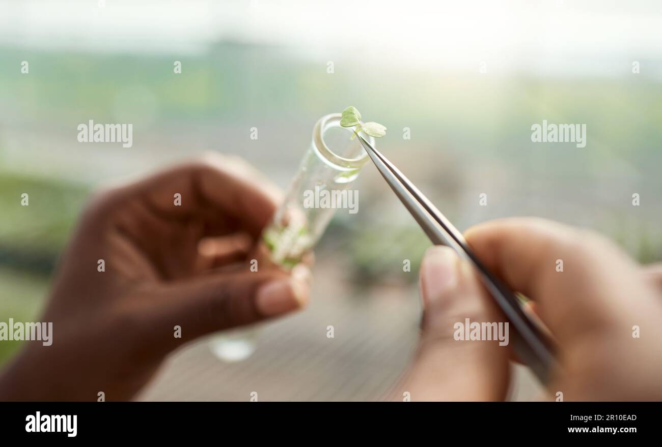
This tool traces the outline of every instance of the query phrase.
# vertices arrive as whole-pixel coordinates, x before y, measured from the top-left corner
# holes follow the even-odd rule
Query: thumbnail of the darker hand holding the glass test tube
[[[305,282],[297,278],[267,282],[258,289],[256,306],[265,317],[298,309],[306,300]]]

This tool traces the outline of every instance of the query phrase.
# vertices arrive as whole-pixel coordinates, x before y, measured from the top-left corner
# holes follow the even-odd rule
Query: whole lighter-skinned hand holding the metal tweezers
[[[532,300],[551,331],[561,370],[544,399],[661,400],[662,269],[643,268],[587,230],[535,218],[477,225],[465,237],[478,257]],[[557,271],[557,260],[563,271]],[[504,322],[473,268],[432,247],[420,269],[424,319],[418,354],[392,398],[500,400],[508,392],[510,346],[456,341],[453,325]],[[639,337],[633,337],[639,327]]]

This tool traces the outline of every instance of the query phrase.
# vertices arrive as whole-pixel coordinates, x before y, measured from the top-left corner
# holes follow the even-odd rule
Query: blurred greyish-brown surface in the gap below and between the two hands
[[[254,392],[258,401],[383,399],[416,348],[418,291],[389,284],[357,292],[332,268],[318,262],[309,307],[261,325],[250,358],[222,362],[208,339],[184,346],[138,400],[249,401]],[[334,327],[333,338],[327,337],[328,326]],[[539,391],[532,375],[516,367],[510,398],[535,399]]]

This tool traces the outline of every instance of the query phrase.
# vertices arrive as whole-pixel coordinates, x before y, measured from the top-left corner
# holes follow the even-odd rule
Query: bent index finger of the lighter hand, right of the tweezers
[[[650,305],[640,293],[638,266],[589,231],[513,218],[477,225],[465,237],[488,268],[536,302],[562,345],[608,326],[622,313],[624,296],[637,297],[629,304],[633,312]]]

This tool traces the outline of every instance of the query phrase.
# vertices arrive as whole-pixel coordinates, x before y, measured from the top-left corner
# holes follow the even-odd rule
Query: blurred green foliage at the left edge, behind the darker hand
[[[0,173],[0,321],[38,321],[48,275],[86,196],[86,188],[66,181]],[[0,364],[21,343],[0,342]]]

